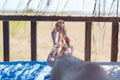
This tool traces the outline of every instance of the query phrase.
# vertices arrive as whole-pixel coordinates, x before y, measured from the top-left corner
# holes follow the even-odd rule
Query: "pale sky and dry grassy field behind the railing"
[[[0,0],[0,15],[120,16],[120,0]],[[51,31],[56,22],[37,21],[37,60],[45,61],[53,47]],[[3,30],[0,21],[0,61],[3,61]],[[84,60],[85,22],[65,22],[73,55]],[[110,22],[92,24],[92,61],[110,61]],[[120,36],[120,35],[119,35]],[[119,37],[120,42],[120,37]],[[119,46],[120,50],[120,46]],[[10,61],[30,60],[30,22],[10,21]],[[120,53],[118,53],[120,61]]]

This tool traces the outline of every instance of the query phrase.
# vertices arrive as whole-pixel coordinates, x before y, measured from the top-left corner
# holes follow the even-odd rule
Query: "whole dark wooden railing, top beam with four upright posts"
[[[71,16],[23,16],[0,15],[3,21],[4,61],[9,61],[9,21],[31,21],[31,60],[36,60],[36,22],[37,21],[64,21],[85,22],[85,60],[91,60],[91,25],[92,22],[112,22],[111,61],[116,62],[118,57],[118,32],[120,17],[71,17]]]

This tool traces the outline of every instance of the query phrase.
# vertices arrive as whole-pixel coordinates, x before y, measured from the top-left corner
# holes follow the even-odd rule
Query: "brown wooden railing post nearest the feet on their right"
[[[91,60],[91,22],[85,22],[85,61]]]

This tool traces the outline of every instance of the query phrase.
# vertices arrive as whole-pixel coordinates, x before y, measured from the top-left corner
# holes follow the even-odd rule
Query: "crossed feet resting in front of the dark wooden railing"
[[[73,47],[70,45],[70,39],[67,36],[63,20],[57,21],[51,35],[53,40],[53,48],[48,55],[47,62],[49,66],[52,67],[56,59],[63,54],[72,55]]]

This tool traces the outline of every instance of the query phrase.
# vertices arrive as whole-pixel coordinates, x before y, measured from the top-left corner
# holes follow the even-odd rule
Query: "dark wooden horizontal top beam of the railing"
[[[120,21],[120,17],[119,21]],[[113,22],[116,17],[87,17],[87,16],[28,16],[28,15],[0,15],[0,20],[15,20],[15,21],[57,21],[63,19],[64,21],[91,21],[91,22]]]

